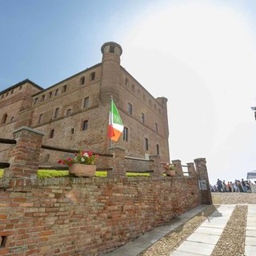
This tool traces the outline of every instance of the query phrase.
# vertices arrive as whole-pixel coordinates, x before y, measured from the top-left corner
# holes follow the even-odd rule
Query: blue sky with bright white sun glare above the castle
[[[121,64],[168,98],[170,157],[206,158],[210,181],[256,170],[256,2],[1,0],[0,90],[43,88],[101,62]]]

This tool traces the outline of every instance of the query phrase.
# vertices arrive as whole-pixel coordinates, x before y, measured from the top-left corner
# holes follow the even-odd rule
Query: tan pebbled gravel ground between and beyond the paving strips
[[[212,193],[213,205],[194,216],[184,225],[167,234],[139,256],[169,256],[220,204],[236,204],[211,256],[244,255],[246,234],[246,204],[256,204],[256,193]]]

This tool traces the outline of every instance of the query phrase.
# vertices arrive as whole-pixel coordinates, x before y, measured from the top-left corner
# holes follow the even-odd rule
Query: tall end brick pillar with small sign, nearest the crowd
[[[194,159],[194,163],[198,173],[199,190],[202,194],[202,204],[211,205],[213,201],[210,194],[210,182],[206,167],[206,158]]]

